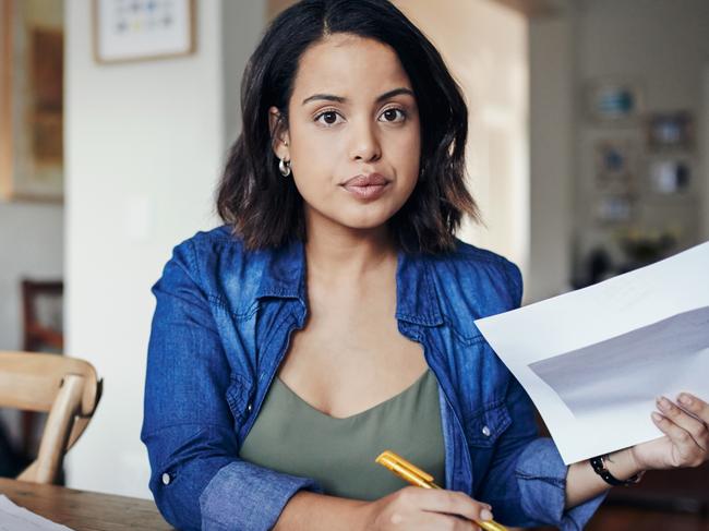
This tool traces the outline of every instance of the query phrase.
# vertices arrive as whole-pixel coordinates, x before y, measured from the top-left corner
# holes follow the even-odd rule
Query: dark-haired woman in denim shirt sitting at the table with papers
[[[565,467],[473,319],[519,270],[454,237],[467,109],[385,0],[304,0],[243,79],[225,227],[154,287],[142,438],[180,529],[579,529],[609,481],[707,460],[709,407],[661,403],[661,439]],[[687,410],[692,413],[684,412]],[[374,463],[392,449],[444,490]],[[610,475],[609,475],[610,474]],[[632,481],[632,480],[630,480]]]

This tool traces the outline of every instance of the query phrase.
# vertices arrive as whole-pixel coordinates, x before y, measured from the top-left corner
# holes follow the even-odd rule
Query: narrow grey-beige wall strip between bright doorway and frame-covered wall
[[[567,291],[572,275],[573,33],[568,8],[529,25],[530,302]]]

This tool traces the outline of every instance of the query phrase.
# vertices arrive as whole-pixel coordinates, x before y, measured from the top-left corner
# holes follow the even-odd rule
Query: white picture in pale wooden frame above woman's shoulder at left
[[[187,56],[195,50],[194,0],[94,0],[100,63]]]

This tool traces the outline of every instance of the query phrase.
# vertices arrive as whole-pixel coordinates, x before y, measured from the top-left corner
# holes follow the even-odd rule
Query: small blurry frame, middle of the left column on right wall
[[[637,146],[628,140],[603,140],[594,145],[596,185],[627,194],[635,184]]]

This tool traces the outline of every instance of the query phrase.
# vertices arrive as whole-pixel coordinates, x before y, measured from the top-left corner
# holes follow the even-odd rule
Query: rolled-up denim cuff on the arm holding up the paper
[[[582,530],[605,498],[603,493],[564,510],[567,467],[550,438],[530,443],[519,456],[515,473],[527,516],[562,531]]]

